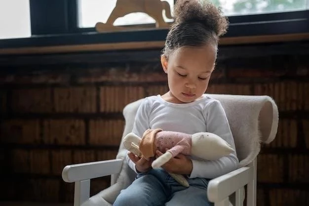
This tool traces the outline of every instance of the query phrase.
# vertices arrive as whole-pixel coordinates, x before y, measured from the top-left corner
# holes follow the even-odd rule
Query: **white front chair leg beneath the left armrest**
[[[74,206],[80,206],[90,197],[90,179],[75,182]]]

